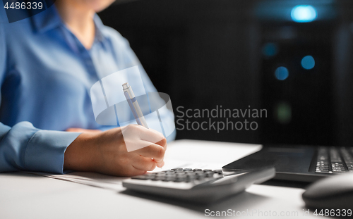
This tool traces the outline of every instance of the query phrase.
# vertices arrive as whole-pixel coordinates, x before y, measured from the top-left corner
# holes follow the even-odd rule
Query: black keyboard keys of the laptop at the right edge
[[[353,148],[321,147],[318,149],[316,173],[353,172]]]

